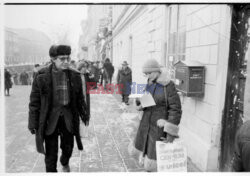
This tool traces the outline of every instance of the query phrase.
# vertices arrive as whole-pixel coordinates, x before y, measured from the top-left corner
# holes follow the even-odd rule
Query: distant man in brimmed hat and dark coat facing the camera
[[[132,84],[132,70],[128,67],[127,61],[122,63],[122,69],[118,71],[117,84],[120,85],[120,93],[122,95],[122,102],[129,105],[129,95],[131,93]]]

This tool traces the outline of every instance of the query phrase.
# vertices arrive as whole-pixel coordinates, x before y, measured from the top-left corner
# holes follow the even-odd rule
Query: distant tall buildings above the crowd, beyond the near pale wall
[[[82,21],[82,35],[79,40],[80,59],[101,61],[112,58],[110,37],[112,22],[111,5],[88,6],[88,19]]]

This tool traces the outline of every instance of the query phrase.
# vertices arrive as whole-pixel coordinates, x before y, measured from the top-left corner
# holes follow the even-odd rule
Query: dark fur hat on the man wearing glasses
[[[68,45],[52,45],[49,49],[49,56],[56,57],[60,55],[70,55],[71,47]]]

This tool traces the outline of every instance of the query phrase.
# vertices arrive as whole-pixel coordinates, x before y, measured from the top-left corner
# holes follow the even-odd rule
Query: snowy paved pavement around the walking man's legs
[[[5,97],[6,172],[45,172],[44,156],[35,148],[28,130],[28,103],[31,86],[14,86]],[[82,138],[84,150],[74,145],[70,159],[72,172],[143,172],[129,156],[127,148],[139,123],[132,102],[124,111],[119,97],[91,95],[91,119],[88,135]],[[60,156],[60,149],[59,149]],[[58,171],[61,164],[58,162]],[[188,162],[188,171],[198,171]]]

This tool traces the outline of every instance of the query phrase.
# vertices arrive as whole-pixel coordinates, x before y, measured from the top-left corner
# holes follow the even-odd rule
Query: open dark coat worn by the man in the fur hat
[[[52,108],[52,65],[42,68],[38,71],[32,84],[29,103],[29,124],[30,130],[37,129],[36,147],[39,153],[45,153],[44,150],[44,131],[47,118]],[[79,150],[83,150],[80,134],[80,118],[86,124],[89,121],[87,107],[82,93],[82,82],[80,73],[73,70],[66,71],[70,86],[70,104],[73,113],[73,129]]]

